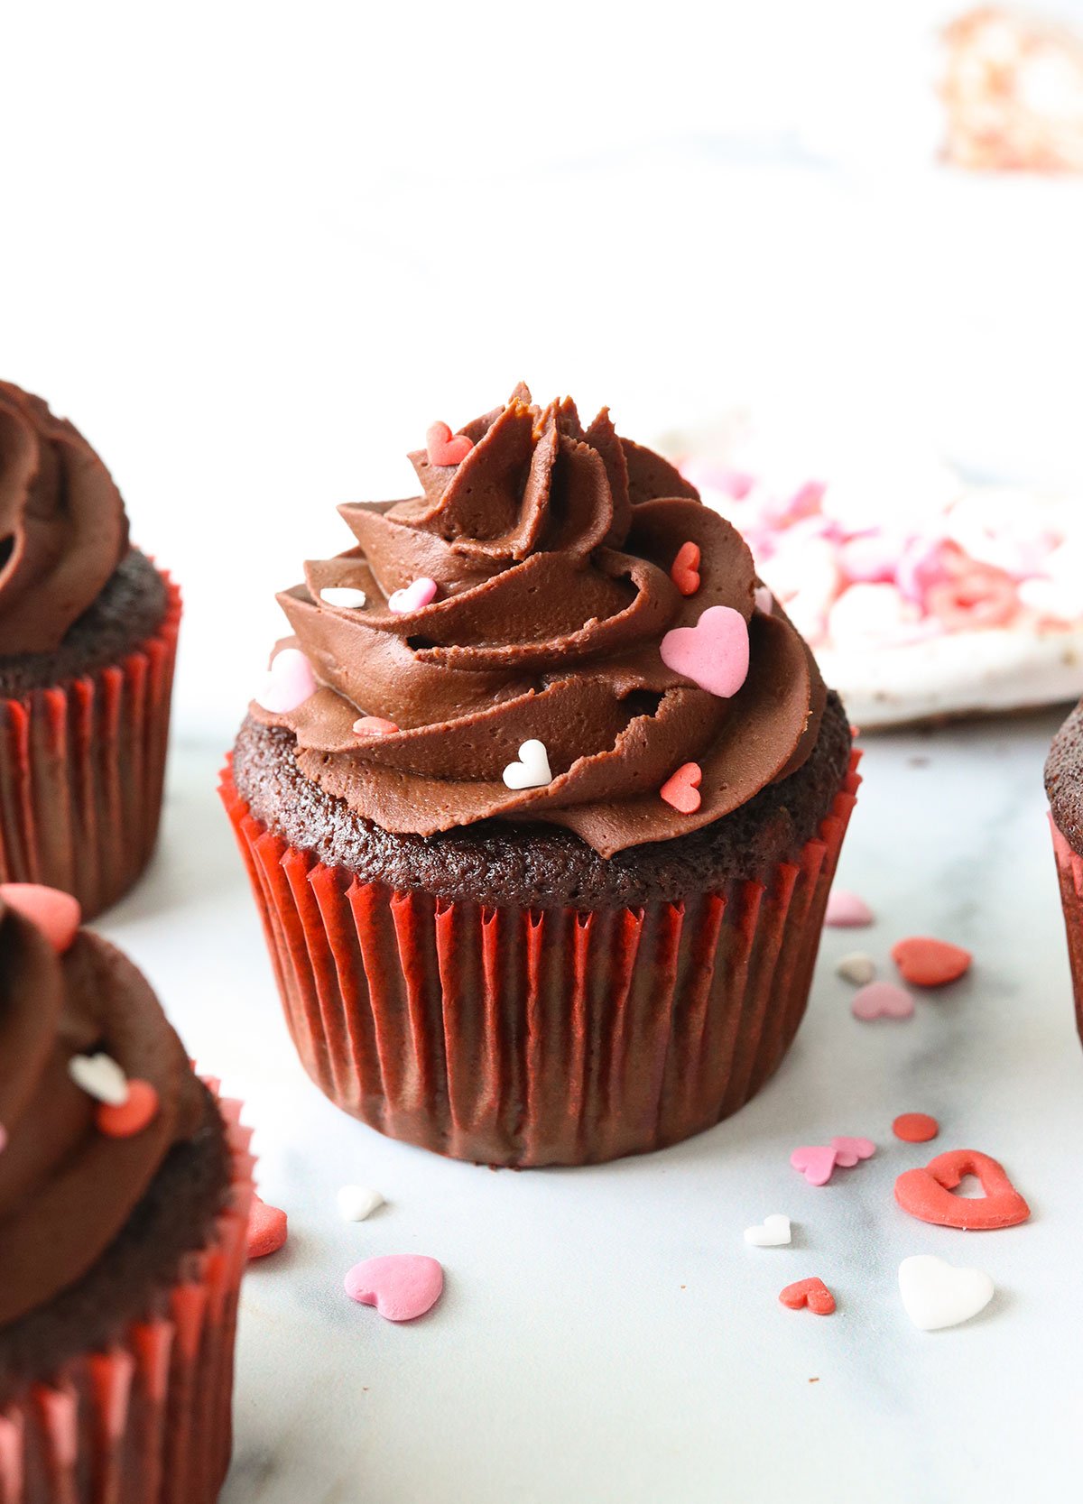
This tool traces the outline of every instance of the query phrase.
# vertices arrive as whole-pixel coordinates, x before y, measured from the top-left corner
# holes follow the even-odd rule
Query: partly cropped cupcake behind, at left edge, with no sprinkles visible
[[[95,451],[0,382],[0,881],[62,887],[90,917],[143,871],[179,621]]]

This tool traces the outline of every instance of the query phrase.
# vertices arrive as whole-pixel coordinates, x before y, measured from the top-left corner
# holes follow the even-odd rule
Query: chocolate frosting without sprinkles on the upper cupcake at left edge
[[[126,552],[98,454],[41,397],[0,382],[0,656],[59,648]]]

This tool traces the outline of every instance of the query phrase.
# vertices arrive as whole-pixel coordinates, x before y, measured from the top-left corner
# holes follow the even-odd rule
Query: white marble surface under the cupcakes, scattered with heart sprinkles
[[[1054,714],[869,740],[841,877],[871,931],[826,934],[809,1015],[776,1078],[731,1122],[588,1170],[493,1173],[381,1139],[296,1063],[232,835],[218,754],[177,747],[153,872],[102,929],[144,966],[190,1047],[247,1101],[287,1248],[251,1269],[224,1504],[966,1504],[1074,1496],[1083,1427],[1083,1053],[1041,764]],[[854,943],[970,945],[972,976],[909,1023],[860,1024],[833,961]],[[936,1151],[1000,1158],[1033,1208],[994,1233],[928,1227],[895,1176],[934,1152],[892,1117],[934,1113]],[[871,1163],[814,1190],[799,1143],[866,1134]],[[344,1224],[343,1182],[388,1205]],[[767,1212],[790,1248],[745,1245]],[[442,1260],[412,1327],[353,1305],[376,1253]],[[996,1283],[967,1327],[902,1313],[913,1253]],[[778,1292],[820,1274],[830,1319]],[[812,1382],[815,1381],[815,1382]]]

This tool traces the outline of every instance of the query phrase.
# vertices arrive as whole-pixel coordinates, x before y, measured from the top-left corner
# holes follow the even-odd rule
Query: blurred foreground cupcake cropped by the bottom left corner
[[[251,1158],[135,967],[0,887],[0,1498],[211,1504]]]

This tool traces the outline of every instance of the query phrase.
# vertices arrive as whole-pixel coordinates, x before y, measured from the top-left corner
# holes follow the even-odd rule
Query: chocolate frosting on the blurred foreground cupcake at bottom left
[[[98,1131],[98,1104],[68,1074],[98,1051],[158,1092],[156,1116],[128,1139]],[[0,902],[0,1327],[95,1263],[202,1117],[202,1087],[135,967],[87,931],[57,955]]]

